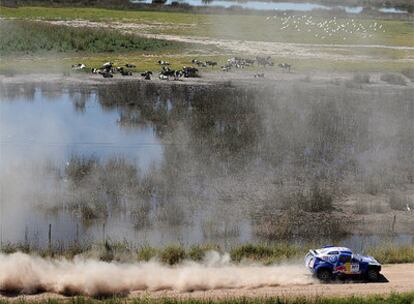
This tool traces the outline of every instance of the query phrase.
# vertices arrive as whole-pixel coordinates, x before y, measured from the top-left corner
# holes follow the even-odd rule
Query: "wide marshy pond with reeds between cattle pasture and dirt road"
[[[366,236],[365,209],[329,209],[336,197],[410,183],[412,93],[311,83],[3,86],[1,220],[13,227],[3,235],[45,244],[51,223],[62,242],[412,242],[403,213],[400,230]],[[384,226],[375,212],[392,218],[384,208],[372,225]]]

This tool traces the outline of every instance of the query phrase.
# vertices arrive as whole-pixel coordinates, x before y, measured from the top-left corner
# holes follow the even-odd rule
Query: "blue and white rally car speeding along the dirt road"
[[[381,264],[376,259],[354,254],[346,247],[311,249],[305,256],[305,265],[321,281],[346,277],[374,282],[380,279]]]

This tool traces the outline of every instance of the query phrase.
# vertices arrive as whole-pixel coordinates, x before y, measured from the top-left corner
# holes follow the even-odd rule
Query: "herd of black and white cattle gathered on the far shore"
[[[215,67],[217,66],[217,62],[215,61],[201,61],[198,59],[193,59],[192,63],[197,65],[200,68],[207,68],[207,67]],[[182,69],[173,70],[171,69],[170,63],[168,61],[159,60],[158,64],[161,66],[161,71],[159,72],[158,78],[161,80],[180,80],[181,78],[191,78],[191,77],[199,77],[199,70],[198,68],[192,66],[184,66]],[[256,59],[248,59],[248,58],[241,58],[241,57],[232,57],[227,60],[227,62],[221,66],[221,70],[228,72],[233,69],[243,69],[245,67],[253,66],[257,64],[258,66],[266,67],[266,66],[274,66],[274,62],[272,58],[269,57],[260,57],[257,56]],[[278,64],[280,68],[284,71],[291,72],[292,66],[287,63],[280,63]],[[121,74],[122,76],[132,76],[132,70],[136,68],[134,64],[127,63],[124,66],[115,66],[112,62],[104,63],[100,68],[92,68],[92,74],[99,74],[102,75],[104,78],[112,78],[114,74]],[[72,65],[73,70],[85,70],[87,69],[85,64],[79,63]],[[141,73],[141,76],[145,80],[151,80],[153,77],[152,71],[145,71]],[[255,78],[263,78],[264,73],[257,73],[254,75]]]

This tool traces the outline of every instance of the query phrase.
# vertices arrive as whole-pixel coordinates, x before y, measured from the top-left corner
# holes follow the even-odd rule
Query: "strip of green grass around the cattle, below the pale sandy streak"
[[[100,67],[102,63],[112,61],[115,65],[122,65],[124,63],[133,63],[137,65],[135,71],[159,71],[160,66],[158,60],[163,59],[171,63],[173,69],[182,68],[182,66],[193,65],[191,60],[198,58],[201,60],[217,61],[219,65],[215,68],[202,68],[203,72],[220,71],[220,65],[225,63],[227,58],[234,56],[234,54],[227,55],[200,55],[196,51],[192,54],[168,54],[168,53],[153,53],[143,54],[142,52],[128,52],[128,53],[72,53],[69,56],[66,54],[56,54],[53,56],[39,56],[26,55],[20,57],[0,58],[0,74],[20,74],[20,73],[72,73],[71,65],[75,63],[84,63],[88,67]],[[65,55],[65,56],[64,56]],[[403,61],[385,60],[385,61],[367,61],[367,60],[330,60],[330,59],[293,59],[288,57],[272,57],[275,62],[290,62],[293,64],[294,72],[396,72],[400,73],[406,69],[414,69],[414,63],[406,63]],[[245,69],[244,71],[251,71],[252,75],[258,70],[257,67]],[[262,70],[262,69],[261,69]],[[267,72],[281,72],[275,66],[263,70]]]

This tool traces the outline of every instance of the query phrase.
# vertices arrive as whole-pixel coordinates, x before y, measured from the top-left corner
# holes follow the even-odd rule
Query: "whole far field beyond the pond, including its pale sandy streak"
[[[194,58],[224,64],[227,58],[241,54],[253,58],[270,55],[276,62],[292,63],[296,71],[400,72],[414,65],[414,26],[413,22],[403,20],[47,7],[3,7],[0,17],[17,23],[8,27],[8,35],[3,32],[3,38],[0,33],[3,55],[16,48],[22,50],[20,56],[14,52],[12,58],[7,56],[7,60],[0,61],[0,69],[9,74],[20,69],[24,73],[39,69],[60,72],[73,63],[99,66],[109,59],[133,62],[139,70],[156,69],[160,58],[176,67],[189,65]],[[46,24],[31,24],[28,20],[42,20]],[[44,34],[48,42],[25,39],[25,43],[19,44],[15,36],[21,33],[22,26],[30,27],[33,37]],[[47,27],[50,29],[44,31]],[[70,30],[73,27],[75,32]],[[50,35],[55,28],[65,33],[61,35],[64,41],[57,45],[53,45],[54,37]],[[105,35],[107,39],[100,38],[99,45],[93,42]],[[131,35],[141,37],[141,41],[134,38],[131,43]],[[158,39],[163,42],[157,42]],[[28,67],[25,62],[33,56],[34,68]]]

